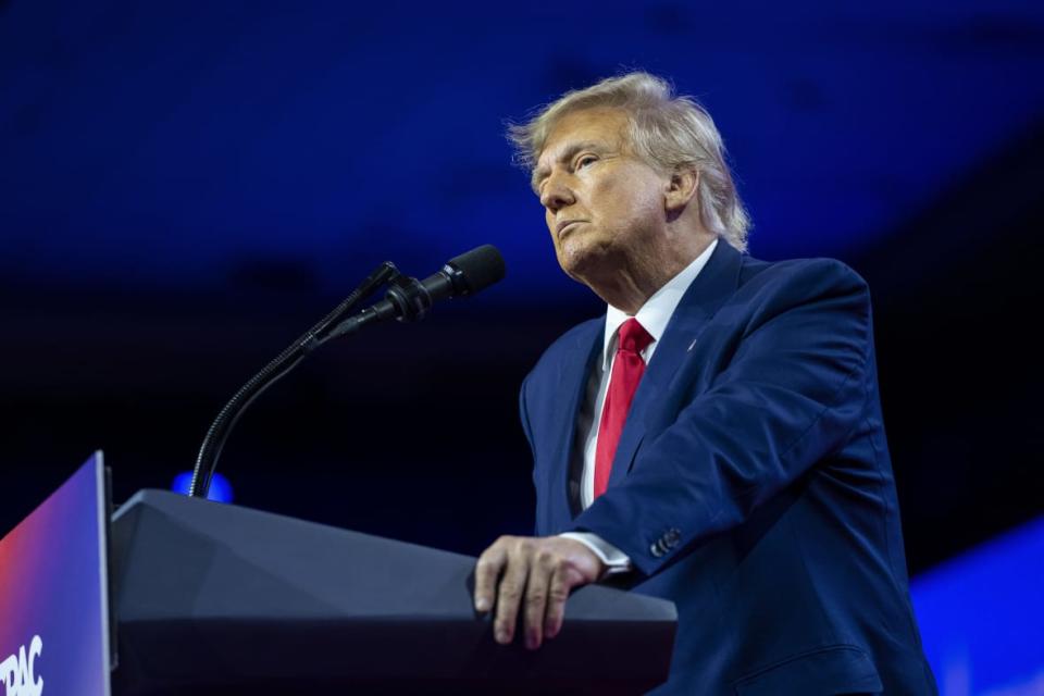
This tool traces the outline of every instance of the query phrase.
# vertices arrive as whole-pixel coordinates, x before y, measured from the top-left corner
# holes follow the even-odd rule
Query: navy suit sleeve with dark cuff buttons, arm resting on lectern
[[[742,524],[843,446],[863,413],[872,338],[862,278],[809,263],[751,306],[728,366],[575,520],[646,575]]]

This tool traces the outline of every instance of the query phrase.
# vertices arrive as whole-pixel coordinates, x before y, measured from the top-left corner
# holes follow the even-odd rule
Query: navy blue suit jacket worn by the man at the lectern
[[[576,415],[604,326],[559,338],[522,385],[536,533],[594,532],[631,557],[635,592],[675,602],[656,693],[936,693],[862,278],[721,240],[642,378],[608,490],[576,514]]]

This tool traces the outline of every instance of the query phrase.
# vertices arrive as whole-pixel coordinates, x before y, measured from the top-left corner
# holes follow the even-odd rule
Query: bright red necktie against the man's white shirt
[[[609,390],[601,410],[601,423],[598,424],[598,446],[595,449],[595,498],[606,492],[609,473],[612,471],[612,458],[617,455],[620,433],[627,420],[627,410],[638,389],[638,382],[645,373],[642,351],[652,343],[652,336],[645,331],[633,316],[620,326],[617,341],[617,358],[612,362],[609,375]]]

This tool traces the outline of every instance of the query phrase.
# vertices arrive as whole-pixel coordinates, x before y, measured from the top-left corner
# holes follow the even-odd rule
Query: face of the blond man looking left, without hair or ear
[[[563,116],[533,173],[558,263],[588,285],[645,263],[662,241],[669,177],[632,152],[626,123],[617,109]]]

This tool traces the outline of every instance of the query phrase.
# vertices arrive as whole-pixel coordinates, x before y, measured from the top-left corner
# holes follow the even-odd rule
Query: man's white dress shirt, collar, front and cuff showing
[[[714,239],[696,259],[685,266],[681,273],[667,282],[652,297],[634,314],[638,323],[652,337],[642,359],[648,365],[652,353],[659,344],[660,337],[667,330],[678,303],[688,290],[699,272],[707,265],[707,260],[718,246]],[[612,363],[617,353],[617,331],[630,315],[611,304],[606,311],[606,331],[602,338],[601,358],[595,361],[594,369],[587,380],[587,390],[584,403],[581,406],[576,419],[576,437],[584,442],[584,469],[581,476],[580,502],[583,509],[591,507],[595,499],[595,452],[598,449],[598,424],[601,423],[601,411],[606,403],[606,393],[609,390],[609,377],[612,374]],[[606,564],[607,574],[621,573],[631,570],[631,559],[620,549],[612,546],[597,534],[589,532],[567,532],[561,536],[575,539],[587,546]]]

